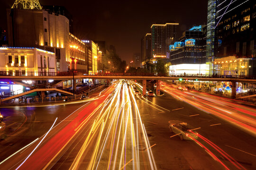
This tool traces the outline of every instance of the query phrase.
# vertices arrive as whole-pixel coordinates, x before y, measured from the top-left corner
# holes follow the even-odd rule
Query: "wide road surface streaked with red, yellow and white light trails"
[[[183,92],[173,85],[162,89],[166,94],[163,97],[135,98],[131,85],[119,82],[79,103],[0,108],[7,126],[11,127],[8,137],[0,142],[0,161],[36,140],[1,163],[1,169],[256,168],[253,106],[234,101],[222,101],[221,105],[214,101],[223,100],[221,98],[196,91]],[[208,105],[204,103],[207,100],[211,100]],[[219,114],[224,114],[217,106],[225,108],[226,102],[240,109],[229,108],[232,114],[239,112],[239,117],[231,118],[240,120],[246,116],[236,122],[245,123],[249,128],[241,128],[240,124],[216,114],[217,109]],[[204,110],[206,108],[208,110]],[[197,128],[199,138],[181,141],[169,131],[169,122],[174,120]]]

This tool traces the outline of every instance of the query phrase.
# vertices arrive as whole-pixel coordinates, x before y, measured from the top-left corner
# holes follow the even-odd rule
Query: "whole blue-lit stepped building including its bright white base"
[[[170,74],[209,74],[206,62],[206,26],[193,26],[169,46]],[[181,68],[184,67],[184,68]],[[202,70],[200,69],[202,68]]]

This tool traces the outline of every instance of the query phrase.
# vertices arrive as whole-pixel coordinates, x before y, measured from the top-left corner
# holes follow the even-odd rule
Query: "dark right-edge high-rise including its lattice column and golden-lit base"
[[[256,4],[254,1],[208,0],[207,29],[206,55],[210,59],[211,73],[226,74],[238,70],[238,74],[241,73],[241,75],[256,75]],[[214,65],[215,61],[218,63],[219,59],[227,57],[232,59],[235,57],[238,60],[247,58],[250,60],[247,67],[251,68],[243,71],[244,68],[231,67],[230,70],[224,70],[225,72],[215,69],[219,69]],[[225,63],[227,59],[221,59],[221,62]]]

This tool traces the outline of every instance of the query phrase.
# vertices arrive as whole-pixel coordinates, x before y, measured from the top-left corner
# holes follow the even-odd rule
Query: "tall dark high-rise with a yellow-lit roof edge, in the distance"
[[[153,24],[151,26],[151,57],[169,58],[169,45],[176,40],[178,23]]]

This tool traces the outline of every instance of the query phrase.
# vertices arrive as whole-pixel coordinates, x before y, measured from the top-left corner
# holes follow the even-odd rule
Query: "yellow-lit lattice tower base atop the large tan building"
[[[11,8],[42,9],[38,0],[15,0]]]

